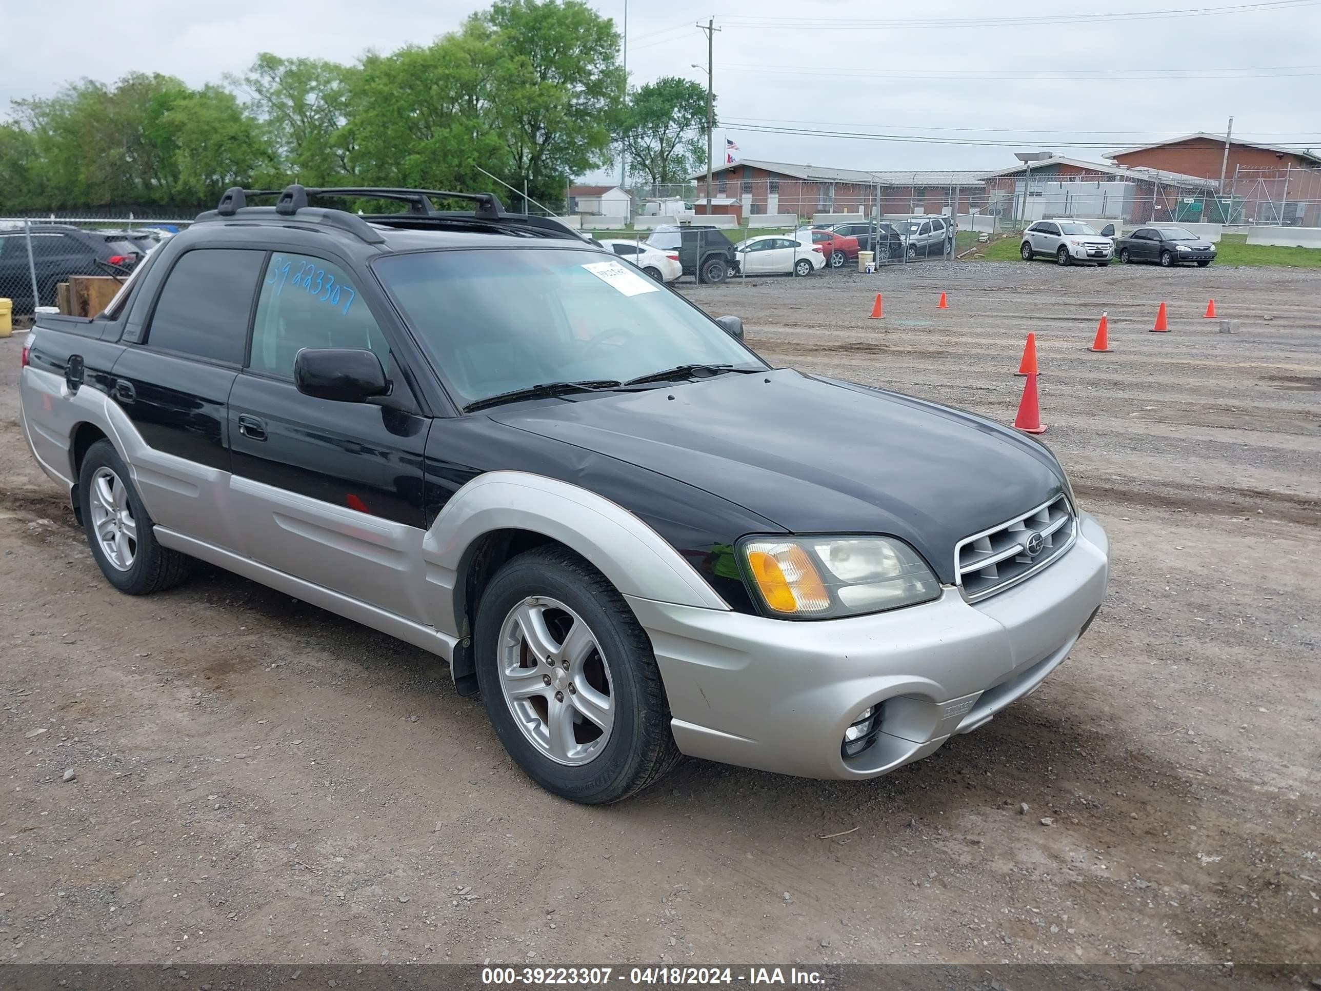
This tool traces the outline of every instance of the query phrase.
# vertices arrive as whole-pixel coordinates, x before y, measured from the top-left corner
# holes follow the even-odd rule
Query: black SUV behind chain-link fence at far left
[[[32,243],[32,267],[28,243]],[[61,223],[34,223],[0,230],[0,296],[13,299],[15,312],[52,307],[55,287],[70,275],[115,275],[131,270],[147,254],[123,231],[94,231]],[[32,276],[41,299],[32,299]]]

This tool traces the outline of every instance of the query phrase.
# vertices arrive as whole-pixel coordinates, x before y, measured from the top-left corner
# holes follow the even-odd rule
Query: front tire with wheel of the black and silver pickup
[[[520,617],[540,622],[550,650],[530,647]],[[583,659],[560,658],[555,665],[580,622],[590,637]],[[547,791],[583,805],[618,802],[678,764],[651,641],[614,585],[572,551],[538,547],[507,562],[482,593],[474,634],[477,683],[495,735],[523,773]],[[552,663],[544,663],[546,654]],[[585,687],[571,692],[572,686]],[[585,702],[589,688],[594,702]],[[528,695],[511,698],[510,691]],[[610,706],[608,732],[581,715],[584,706],[601,700]],[[567,737],[557,737],[561,757],[552,753],[552,712],[577,720],[568,723]]]

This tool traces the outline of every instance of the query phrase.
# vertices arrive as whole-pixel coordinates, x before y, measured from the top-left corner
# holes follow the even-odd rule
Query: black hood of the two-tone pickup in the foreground
[[[497,408],[491,419],[658,472],[797,534],[886,534],[942,581],[954,546],[1063,488],[1041,444],[972,414],[782,369]]]

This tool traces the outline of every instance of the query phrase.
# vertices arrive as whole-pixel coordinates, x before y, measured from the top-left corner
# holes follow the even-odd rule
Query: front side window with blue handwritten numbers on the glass
[[[248,367],[293,378],[304,348],[359,348],[390,367],[390,348],[358,295],[357,280],[334,262],[275,252],[262,279]]]

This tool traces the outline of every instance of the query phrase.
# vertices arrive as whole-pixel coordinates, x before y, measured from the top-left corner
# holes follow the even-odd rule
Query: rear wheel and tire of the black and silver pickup
[[[188,577],[193,559],[156,542],[128,466],[108,440],[87,448],[78,472],[78,502],[92,558],[120,592],[152,595]]]

